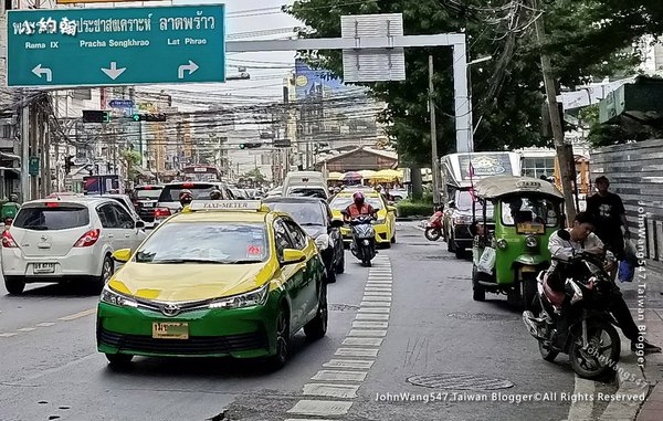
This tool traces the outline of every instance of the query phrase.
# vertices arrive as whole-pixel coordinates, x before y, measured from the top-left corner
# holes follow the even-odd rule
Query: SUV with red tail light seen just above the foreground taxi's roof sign
[[[232,200],[234,196],[225,183],[209,181],[185,181],[171,182],[165,185],[159,194],[159,201],[155,209],[155,225],[178,212],[181,208],[179,194],[182,190],[190,190],[193,193],[193,200],[209,200],[210,192],[214,189],[221,190],[223,200]]]

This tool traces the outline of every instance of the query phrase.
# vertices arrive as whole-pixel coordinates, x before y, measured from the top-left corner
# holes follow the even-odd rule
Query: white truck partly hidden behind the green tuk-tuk
[[[450,154],[441,159],[443,212],[442,235],[446,249],[463,259],[472,249],[470,227],[475,212],[483,212],[481,203],[473,203],[472,188],[476,181],[492,176],[520,176],[520,155],[515,152]],[[488,204],[490,206],[490,204]],[[486,209],[492,214],[491,209]]]

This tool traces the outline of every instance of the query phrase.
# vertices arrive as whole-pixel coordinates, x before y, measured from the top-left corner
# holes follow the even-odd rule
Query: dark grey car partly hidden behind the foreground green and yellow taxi
[[[323,256],[327,282],[336,282],[336,274],[345,272],[345,248],[340,235],[343,221],[334,220],[326,201],[313,198],[267,198],[263,203],[276,212],[284,212],[313,239]]]

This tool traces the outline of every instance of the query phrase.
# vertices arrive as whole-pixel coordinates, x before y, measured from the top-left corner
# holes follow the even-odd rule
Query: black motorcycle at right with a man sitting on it
[[[567,354],[571,368],[578,376],[596,379],[617,365],[620,357],[620,337],[614,328],[617,320],[610,314],[611,296],[617,286],[603,269],[603,259],[589,253],[577,254],[571,262],[573,277],[566,280],[566,293],[555,292],[548,285],[548,274],[537,277],[537,302],[539,309],[523,313],[523,322],[529,334],[538,340],[539,352],[547,361],[554,361],[559,352]],[[565,273],[568,273],[565,271]],[[554,334],[562,303],[570,296],[568,333],[564,347],[556,348]]]

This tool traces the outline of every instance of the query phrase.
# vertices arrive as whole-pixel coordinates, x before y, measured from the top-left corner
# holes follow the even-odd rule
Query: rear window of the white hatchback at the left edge
[[[69,230],[90,224],[90,212],[87,208],[75,204],[28,207],[19,211],[13,224],[25,230]]]

